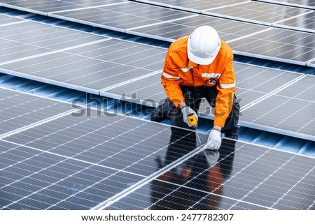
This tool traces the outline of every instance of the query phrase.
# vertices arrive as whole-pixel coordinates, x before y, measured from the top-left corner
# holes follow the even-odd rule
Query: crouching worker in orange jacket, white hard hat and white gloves
[[[214,28],[198,27],[189,36],[175,40],[167,51],[161,79],[170,102],[172,125],[189,128],[187,115],[195,114],[198,120],[197,111],[206,98],[215,112],[204,149],[219,149],[221,133],[238,138],[233,53]]]

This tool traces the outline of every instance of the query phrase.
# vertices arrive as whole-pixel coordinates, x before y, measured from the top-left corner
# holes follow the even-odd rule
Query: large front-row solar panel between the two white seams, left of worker
[[[0,140],[1,209],[90,209],[158,171],[171,127],[87,110]],[[190,142],[172,161],[195,149],[195,133],[177,134]]]

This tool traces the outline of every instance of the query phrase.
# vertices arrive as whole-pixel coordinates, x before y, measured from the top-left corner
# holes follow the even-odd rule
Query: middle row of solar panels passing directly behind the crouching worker
[[[0,22],[2,73],[153,107],[166,97],[160,84],[165,48],[6,15]],[[237,62],[235,71],[240,124],[315,139],[314,76]],[[204,102],[200,116],[212,114]]]

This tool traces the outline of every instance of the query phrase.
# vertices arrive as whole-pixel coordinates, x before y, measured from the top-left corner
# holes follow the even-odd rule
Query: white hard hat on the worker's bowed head
[[[188,37],[188,59],[195,64],[209,65],[220,51],[221,40],[210,26],[198,27]]]

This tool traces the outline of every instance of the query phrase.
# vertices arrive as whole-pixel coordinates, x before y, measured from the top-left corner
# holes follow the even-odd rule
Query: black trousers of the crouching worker
[[[216,96],[218,90],[214,87],[185,87],[181,86],[181,91],[185,97],[186,105],[198,112],[202,98],[206,98],[211,107],[216,107]],[[225,126],[222,128],[222,133],[225,137],[237,136],[239,131],[239,109],[240,105],[237,101],[237,97],[234,95],[232,111],[229,114],[228,119],[225,121]],[[183,128],[189,128],[188,125],[183,122],[183,114],[181,110],[177,109],[174,104],[169,103],[169,114],[172,121],[172,125]]]

